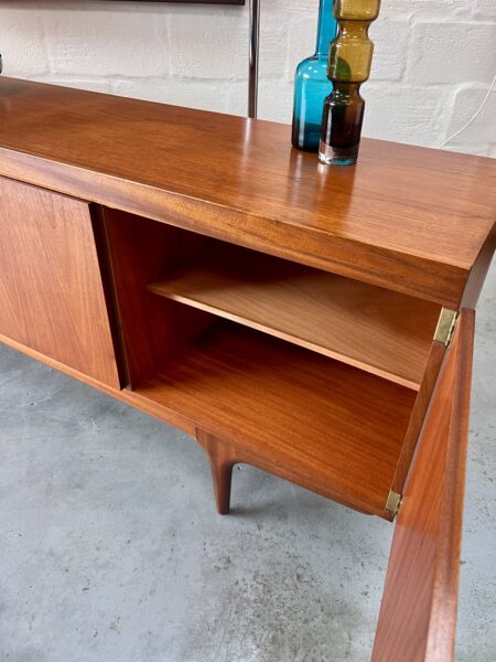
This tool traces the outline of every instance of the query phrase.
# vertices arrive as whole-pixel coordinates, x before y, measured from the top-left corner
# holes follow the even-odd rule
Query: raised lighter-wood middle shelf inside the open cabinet
[[[440,313],[429,301],[220,243],[148,289],[416,391]]]

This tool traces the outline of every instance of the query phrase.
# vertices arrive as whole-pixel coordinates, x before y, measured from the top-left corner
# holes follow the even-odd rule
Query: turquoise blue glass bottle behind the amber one
[[[336,34],[333,0],[321,0],[315,54],[300,62],[294,76],[292,143],[304,151],[319,151],[324,99],[332,89],[327,78],[328,44]]]

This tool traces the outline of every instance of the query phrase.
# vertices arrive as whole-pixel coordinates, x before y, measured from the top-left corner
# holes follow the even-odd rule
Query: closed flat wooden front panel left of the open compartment
[[[0,178],[0,334],[119,387],[87,203]]]

